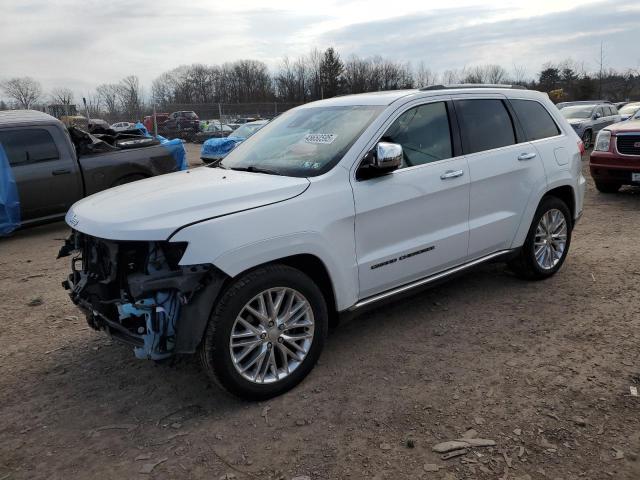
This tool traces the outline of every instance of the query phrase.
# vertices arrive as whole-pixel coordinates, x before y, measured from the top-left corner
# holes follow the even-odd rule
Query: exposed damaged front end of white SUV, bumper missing
[[[87,317],[134,347],[138,358],[194,353],[226,276],[210,264],[179,265],[187,244],[112,241],[74,231],[62,285]]]

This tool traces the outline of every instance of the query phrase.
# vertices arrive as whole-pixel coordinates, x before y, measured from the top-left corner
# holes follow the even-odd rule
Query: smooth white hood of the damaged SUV
[[[184,225],[281,202],[308,186],[306,178],[200,167],[91,195],[66,222],[110,240],[166,240]]]

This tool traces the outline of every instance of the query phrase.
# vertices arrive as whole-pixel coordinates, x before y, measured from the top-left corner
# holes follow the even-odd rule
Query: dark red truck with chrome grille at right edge
[[[596,188],[615,193],[622,185],[640,186],[640,120],[620,122],[598,133],[589,160]]]

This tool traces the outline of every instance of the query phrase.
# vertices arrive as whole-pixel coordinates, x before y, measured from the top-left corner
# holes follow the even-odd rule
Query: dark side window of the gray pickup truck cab
[[[43,128],[0,131],[0,143],[11,165],[44,162],[60,158],[51,134]]]

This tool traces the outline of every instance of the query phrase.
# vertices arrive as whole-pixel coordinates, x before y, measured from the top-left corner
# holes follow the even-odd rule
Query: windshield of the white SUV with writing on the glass
[[[294,177],[320,175],[340,161],[383,109],[360,105],[287,112],[233,150],[223,166],[255,167]]]

